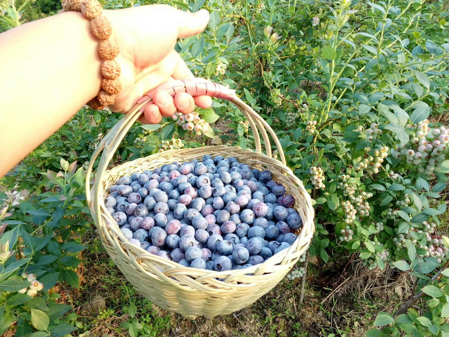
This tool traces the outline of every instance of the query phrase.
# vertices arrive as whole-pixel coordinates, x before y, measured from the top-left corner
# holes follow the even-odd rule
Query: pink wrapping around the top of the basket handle
[[[196,78],[194,80],[175,80],[170,83],[163,83],[157,88],[146,93],[141,99],[137,101],[137,104],[145,102],[147,99],[153,98],[153,95],[157,89],[163,89],[167,93],[174,97],[177,93],[188,93],[192,96],[211,96],[215,98],[221,98],[226,100],[232,100],[235,98],[235,90],[229,89],[224,85],[209,82],[204,79]],[[145,107],[151,104],[151,101],[141,107],[140,111],[143,112]]]

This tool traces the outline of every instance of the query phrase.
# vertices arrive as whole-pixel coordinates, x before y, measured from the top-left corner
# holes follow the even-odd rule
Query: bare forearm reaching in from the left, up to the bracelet
[[[0,177],[98,93],[97,45],[75,12],[0,34]]]

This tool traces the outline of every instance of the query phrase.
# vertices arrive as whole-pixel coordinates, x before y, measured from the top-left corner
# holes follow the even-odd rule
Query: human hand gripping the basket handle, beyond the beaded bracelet
[[[209,20],[206,10],[188,13],[154,4],[108,10],[104,14],[113,27],[111,39],[120,48],[115,60],[121,67],[122,90],[110,106],[112,111],[128,111],[139,98],[160,84],[194,78],[174,46],[177,38],[204,30]],[[162,117],[176,111],[188,114],[195,105],[207,108],[212,104],[209,96],[193,98],[188,93],[178,93],[172,98],[164,90],[156,90],[153,102],[145,108],[141,122],[159,123]]]

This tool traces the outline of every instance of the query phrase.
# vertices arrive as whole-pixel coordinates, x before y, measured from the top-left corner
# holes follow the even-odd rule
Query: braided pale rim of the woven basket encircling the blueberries
[[[285,165],[283,165],[280,160],[273,159],[272,157],[270,157],[269,155],[267,155],[267,154],[265,154],[263,152],[257,152],[257,151],[254,151],[252,149],[242,149],[240,146],[225,146],[225,145],[202,146],[201,148],[204,149],[204,154],[207,154],[208,150],[211,150],[211,149],[217,149],[217,150],[227,149],[227,150],[230,150],[230,151],[237,150],[239,152],[257,153],[257,155],[259,155],[259,156],[262,155],[262,156],[266,157],[266,159],[268,159],[269,161],[276,160],[277,162],[279,162],[280,165],[283,166],[282,168],[285,170]],[[163,155],[167,155],[168,156],[168,155],[172,155],[172,154],[175,154],[175,153],[182,153],[182,152],[186,152],[186,151],[187,152],[193,151],[193,150],[196,150],[196,149],[197,148],[172,149],[172,150],[164,151]],[[109,187],[108,185],[106,185],[105,181],[106,181],[107,177],[110,176],[111,171],[113,172],[114,170],[119,170],[119,168],[121,168],[122,166],[125,166],[125,165],[132,166],[132,163],[137,162],[137,161],[142,161],[143,160],[144,162],[147,162],[147,161],[149,161],[150,157],[153,157],[152,159],[154,159],[158,155],[161,155],[161,153],[155,153],[155,154],[148,155],[148,156],[145,156],[145,157],[137,158],[135,160],[127,161],[127,162],[125,162],[123,164],[119,164],[117,166],[114,166],[114,167],[109,168],[109,169],[106,170],[105,175],[104,175],[104,179],[101,182],[101,184],[99,184],[99,186],[101,186],[101,188],[103,189],[103,193],[101,194],[102,198],[99,198],[100,200],[95,200],[95,198],[92,199],[92,200],[94,200],[94,202],[92,203],[92,208],[93,208],[93,204],[95,202],[98,202],[98,201],[100,202],[101,214],[98,214],[98,216],[97,216],[98,218],[101,217],[101,215],[103,215],[103,217],[106,216],[106,218],[107,218],[107,216],[109,215],[108,213],[103,212],[103,210],[106,209],[106,205],[104,204],[104,195],[108,193],[107,192],[107,187]],[[155,166],[157,165],[156,163],[154,163],[154,164],[155,164]],[[264,165],[264,163],[261,163],[261,165]],[[289,167],[286,167],[286,168],[288,169],[289,172],[286,172],[285,175],[291,176],[295,180],[295,183],[299,186],[299,188],[303,188],[304,191],[305,191],[305,188],[304,188],[304,185],[303,185],[302,181],[298,177],[295,176],[295,174],[293,173],[291,168],[289,168]],[[274,176],[273,176],[273,178],[274,178],[273,180],[275,180],[275,181],[277,180],[277,179],[275,179]],[[95,192],[95,188],[92,189],[92,195],[94,194],[94,192]],[[306,192],[306,195],[308,195],[308,197],[310,199],[309,193],[307,191],[305,191],[305,192]],[[306,199],[306,202],[309,202],[310,206],[312,207],[311,201],[307,200],[308,198],[305,198],[305,199]],[[294,208],[295,208],[296,211],[298,211],[298,209],[296,207],[294,207]],[[313,207],[312,207],[312,209],[313,209]],[[299,213],[299,215],[300,215],[300,213]],[[97,217],[93,217],[94,222],[97,222]],[[219,278],[220,275],[223,275],[224,276],[224,280],[222,282],[225,282],[225,279],[233,278],[235,276],[245,275],[245,274],[250,274],[250,275],[247,275],[247,277],[249,276],[249,277],[257,278],[260,275],[254,275],[254,272],[258,268],[260,268],[260,266],[269,266],[269,265],[270,266],[278,266],[278,265],[283,266],[283,265],[286,264],[286,263],[283,263],[284,260],[285,260],[285,257],[287,255],[291,255],[293,253],[293,252],[290,253],[291,249],[293,248],[293,246],[295,244],[297,245],[299,243],[299,239],[300,239],[299,233],[303,232],[304,224],[306,223],[307,220],[309,220],[309,222],[311,222],[311,225],[313,227],[313,231],[304,237],[304,239],[306,239],[309,236],[306,251],[308,250],[308,248],[310,247],[311,241],[313,239],[313,233],[315,232],[315,223],[314,223],[314,219],[313,218],[312,219],[307,219],[307,216],[306,216],[306,219],[303,219],[302,217],[301,217],[301,219],[303,220],[303,226],[299,230],[298,237],[295,239],[294,244],[291,244],[291,246],[289,248],[285,248],[282,251],[280,251],[280,252],[278,252],[276,254],[273,254],[273,256],[269,257],[267,260],[265,260],[262,263],[253,265],[251,267],[247,267],[245,269],[235,269],[235,270],[233,270],[232,273],[229,273],[230,270],[215,271],[215,270],[207,270],[207,269],[200,269],[200,268],[194,268],[194,267],[189,267],[189,270],[196,271],[197,273],[202,273],[204,275],[207,275],[208,277],[211,277],[211,274],[217,275],[217,278]],[[304,221],[304,220],[306,220],[306,221]],[[110,221],[108,221],[106,223],[106,226],[113,226],[113,228],[115,229],[114,233],[117,235],[117,237],[119,239],[119,242],[120,242],[120,245],[122,246],[122,248],[126,248],[126,246],[130,245],[129,246],[130,248],[136,249],[137,251],[140,251],[139,254],[138,254],[138,258],[139,259],[141,259],[141,257],[147,256],[147,257],[152,257],[152,259],[155,259],[156,261],[159,260],[160,262],[164,262],[164,263],[167,263],[167,261],[170,261],[172,264],[175,264],[175,266],[173,266],[173,267],[161,268],[162,269],[161,273],[164,273],[164,272],[166,272],[168,270],[176,270],[176,268],[178,268],[178,266],[181,267],[181,268],[185,268],[185,266],[182,266],[182,265],[180,265],[177,262],[174,262],[172,260],[167,260],[166,258],[159,257],[158,255],[151,254],[151,253],[149,253],[148,251],[146,251],[145,249],[143,249],[141,247],[137,247],[137,246],[135,246],[133,244],[130,244],[129,240],[126,239],[123,236],[123,234],[121,234],[119,225],[115,221],[113,221],[112,224],[110,223]],[[119,231],[121,235],[119,233],[117,233],[117,231]],[[122,236],[123,236],[123,238],[122,238]],[[127,255],[131,259],[129,253]],[[279,262],[279,263],[276,263],[276,264],[272,264],[271,262],[273,261],[273,258],[275,256],[276,256],[276,258],[282,257],[282,261]],[[275,272],[276,271],[272,271],[272,272],[269,272],[269,273],[275,273]],[[226,275],[224,275],[224,274],[226,274]],[[196,278],[196,280],[198,282],[200,282],[201,281],[201,276],[198,276]],[[181,283],[181,281],[179,281],[179,280],[177,280],[177,281]],[[219,281],[219,280],[217,280],[217,281]],[[242,288],[246,288],[246,287],[248,287],[248,284],[251,284],[251,283],[233,284],[233,287],[235,287],[235,286],[242,286]]]

